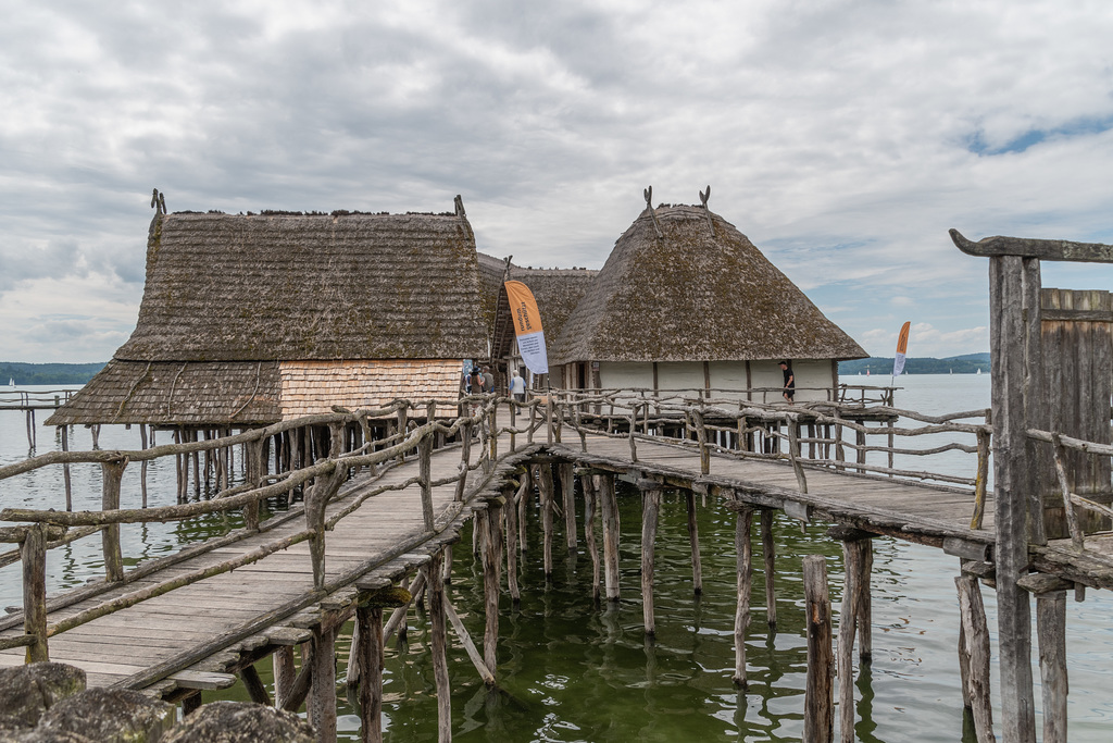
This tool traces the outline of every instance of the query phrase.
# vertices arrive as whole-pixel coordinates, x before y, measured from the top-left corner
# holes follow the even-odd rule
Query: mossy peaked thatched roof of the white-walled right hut
[[[564,323],[550,363],[858,359],[866,352],[722,217],[647,209]],[[713,225],[713,226],[712,226]]]

